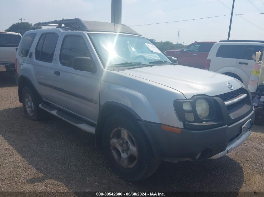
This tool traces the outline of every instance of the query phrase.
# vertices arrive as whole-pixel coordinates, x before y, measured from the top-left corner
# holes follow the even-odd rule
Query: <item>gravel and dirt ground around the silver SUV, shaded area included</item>
[[[249,138],[220,159],[162,162],[147,180],[129,183],[109,168],[94,135],[52,115],[28,120],[7,74],[0,74],[0,101],[0,191],[264,192],[264,127],[254,125]]]

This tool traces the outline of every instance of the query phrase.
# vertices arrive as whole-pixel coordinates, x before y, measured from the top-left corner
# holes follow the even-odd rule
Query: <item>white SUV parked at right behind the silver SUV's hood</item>
[[[255,64],[252,54],[261,51],[261,60],[263,46],[259,40],[219,41],[209,52],[205,69],[237,78],[247,87]]]

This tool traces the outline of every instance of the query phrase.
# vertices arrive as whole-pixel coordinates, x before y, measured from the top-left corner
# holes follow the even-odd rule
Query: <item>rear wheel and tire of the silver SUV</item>
[[[41,120],[44,117],[45,111],[39,108],[41,100],[37,94],[29,87],[24,87],[22,90],[22,104],[24,114],[31,120]]]

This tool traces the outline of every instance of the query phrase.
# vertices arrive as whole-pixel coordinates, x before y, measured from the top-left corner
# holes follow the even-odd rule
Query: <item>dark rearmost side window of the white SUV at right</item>
[[[243,45],[221,45],[216,53],[219,58],[239,59]]]

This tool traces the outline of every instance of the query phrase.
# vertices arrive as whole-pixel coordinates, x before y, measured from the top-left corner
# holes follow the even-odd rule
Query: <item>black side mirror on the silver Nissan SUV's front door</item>
[[[88,58],[88,57],[74,57],[72,59],[72,68],[75,70],[95,73],[96,67],[92,64],[93,62],[91,58]]]

